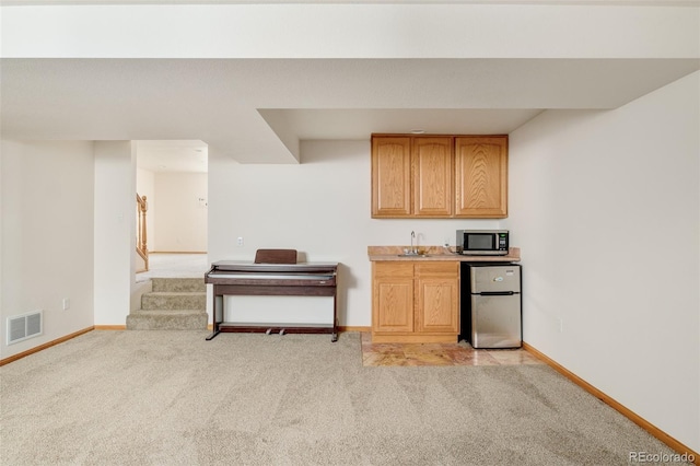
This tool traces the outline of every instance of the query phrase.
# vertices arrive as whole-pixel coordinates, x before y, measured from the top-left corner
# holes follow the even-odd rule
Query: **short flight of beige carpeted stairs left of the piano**
[[[128,330],[206,330],[207,288],[203,278],[153,278],[141,308],[127,316]]]

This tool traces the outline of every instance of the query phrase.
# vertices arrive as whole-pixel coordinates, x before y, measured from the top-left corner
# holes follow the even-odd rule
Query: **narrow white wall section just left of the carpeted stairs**
[[[95,325],[126,325],[136,263],[136,148],[94,142]]]

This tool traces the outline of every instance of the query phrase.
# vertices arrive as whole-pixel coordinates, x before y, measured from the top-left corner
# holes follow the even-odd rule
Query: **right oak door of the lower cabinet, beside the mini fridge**
[[[459,333],[459,263],[416,264],[419,333]]]

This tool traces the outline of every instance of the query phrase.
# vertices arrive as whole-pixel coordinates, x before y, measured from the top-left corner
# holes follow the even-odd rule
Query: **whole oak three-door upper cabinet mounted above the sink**
[[[373,135],[372,217],[508,217],[508,136]]]

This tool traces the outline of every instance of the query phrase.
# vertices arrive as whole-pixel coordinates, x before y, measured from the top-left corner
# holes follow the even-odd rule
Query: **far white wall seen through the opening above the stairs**
[[[154,174],[155,199],[151,205],[154,234],[150,251],[207,252],[207,183],[206,173]]]

